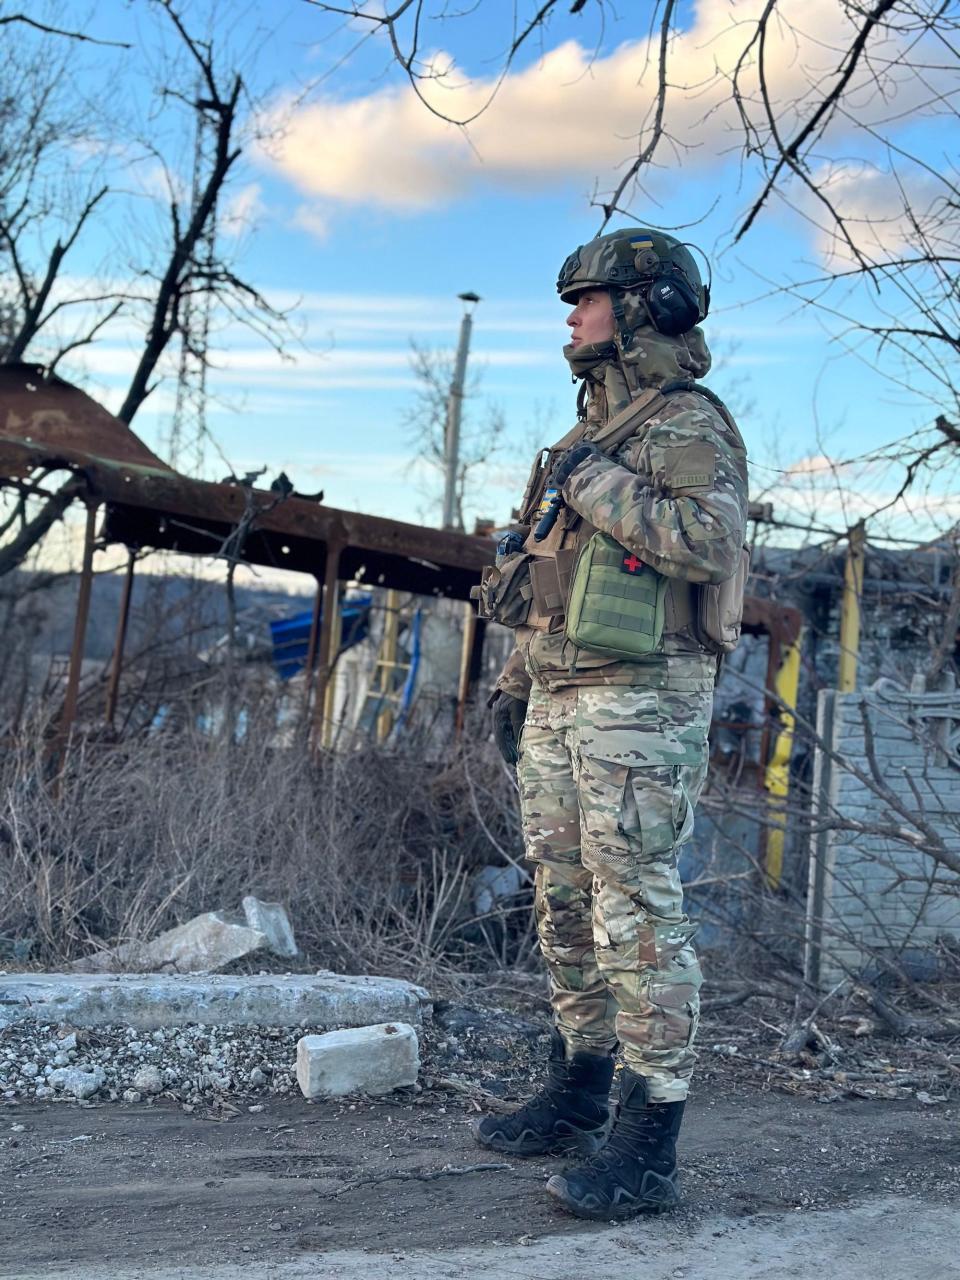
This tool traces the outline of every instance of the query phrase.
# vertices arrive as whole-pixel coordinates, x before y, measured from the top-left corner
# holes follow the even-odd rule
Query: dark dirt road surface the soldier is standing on
[[[685,1126],[685,1206],[643,1226],[590,1226],[562,1215],[543,1193],[558,1162],[480,1151],[466,1129],[472,1114],[466,1100],[442,1105],[433,1097],[352,1105],[276,1100],[229,1120],[163,1102],[4,1108],[0,1274],[173,1277],[219,1275],[229,1266],[229,1275],[251,1280],[374,1275],[384,1267],[456,1276],[472,1270],[461,1272],[458,1263],[477,1262],[499,1245],[493,1257],[503,1258],[504,1249],[520,1256],[504,1274],[586,1276],[593,1262],[586,1268],[570,1253],[584,1242],[616,1247],[620,1240],[634,1249],[646,1240],[649,1251],[655,1236],[669,1252],[707,1231],[714,1253],[718,1242],[736,1245],[740,1233],[744,1275],[814,1275],[820,1268],[813,1263],[809,1271],[748,1271],[753,1254],[744,1228],[759,1225],[773,1240],[782,1236],[776,1226],[782,1219],[803,1236],[810,1226],[800,1215],[847,1208],[846,1217],[833,1212],[832,1220],[859,1222],[861,1249],[876,1243],[876,1222],[890,1224],[897,1211],[918,1235],[913,1244],[897,1235],[909,1245],[904,1266],[913,1258],[918,1270],[865,1274],[960,1276],[960,1108],[954,1105],[822,1105],[780,1093],[732,1096],[710,1085],[691,1103]],[[943,1245],[923,1225],[920,1208],[940,1212]],[[923,1268],[920,1243],[933,1251]],[[356,1251],[366,1267],[351,1270],[344,1260]],[[589,1253],[595,1261],[593,1247]],[[535,1256],[535,1270],[527,1270]],[[671,1256],[664,1276],[708,1274],[684,1272]],[[884,1258],[890,1265],[887,1251]],[[403,1266],[407,1260],[413,1270]]]

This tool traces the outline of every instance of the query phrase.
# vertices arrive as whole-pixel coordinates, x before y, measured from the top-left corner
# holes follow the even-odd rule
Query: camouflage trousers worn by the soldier
[[[521,736],[526,856],[568,1052],[622,1048],[652,1102],[686,1097],[700,966],[677,872],[713,694],[534,687]]]

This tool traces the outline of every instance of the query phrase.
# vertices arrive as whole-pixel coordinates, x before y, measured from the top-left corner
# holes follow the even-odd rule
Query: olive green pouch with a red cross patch
[[[573,570],[567,639],[613,658],[643,658],[663,639],[667,579],[607,534],[594,534]]]

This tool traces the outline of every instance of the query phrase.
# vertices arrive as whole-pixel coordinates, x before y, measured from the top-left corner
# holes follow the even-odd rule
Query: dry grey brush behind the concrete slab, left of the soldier
[[[270,723],[269,712],[265,724]],[[516,787],[466,735],[311,759],[197,731],[76,740],[54,774],[37,736],[0,755],[0,934],[55,965],[147,938],[244,893],[284,902],[310,965],[438,974],[525,961],[529,895],[474,913],[471,876],[522,856]]]

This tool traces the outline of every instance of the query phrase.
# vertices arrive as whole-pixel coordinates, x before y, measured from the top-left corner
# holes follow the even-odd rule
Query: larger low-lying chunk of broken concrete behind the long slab
[[[259,929],[219,911],[195,915],[148,942],[124,942],[70,965],[73,973],[214,973],[268,945]]]

